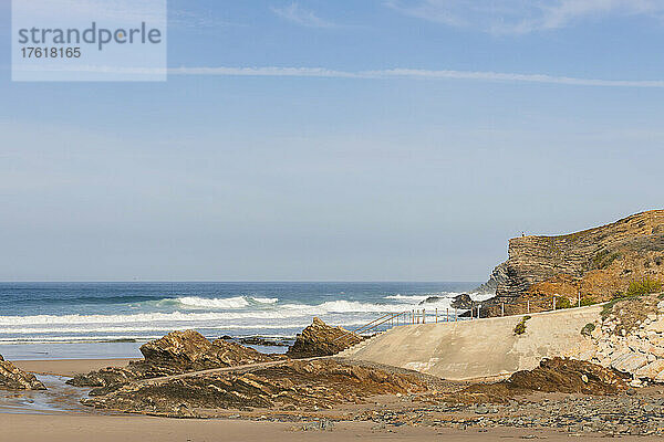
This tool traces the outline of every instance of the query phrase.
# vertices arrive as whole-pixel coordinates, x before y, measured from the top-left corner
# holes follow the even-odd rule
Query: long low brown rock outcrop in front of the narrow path
[[[412,375],[319,359],[288,360],[238,372],[134,381],[82,402],[125,412],[197,417],[200,409],[331,409],[338,403],[361,403],[371,396],[424,390],[426,386]]]

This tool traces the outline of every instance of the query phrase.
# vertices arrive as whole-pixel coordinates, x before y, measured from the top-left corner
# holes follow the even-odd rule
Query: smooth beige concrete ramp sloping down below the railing
[[[515,335],[523,316],[405,325],[343,351],[351,359],[407,368],[445,379],[497,378],[530,370],[544,357],[575,356],[591,348],[581,328],[602,306],[531,314],[526,333]]]

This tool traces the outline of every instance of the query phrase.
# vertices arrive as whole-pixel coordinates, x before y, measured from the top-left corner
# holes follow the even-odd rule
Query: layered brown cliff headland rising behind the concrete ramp
[[[515,238],[509,260],[485,286],[496,287],[500,303],[554,293],[575,298],[579,291],[604,301],[646,278],[664,281],[664,210],[561,236]]]

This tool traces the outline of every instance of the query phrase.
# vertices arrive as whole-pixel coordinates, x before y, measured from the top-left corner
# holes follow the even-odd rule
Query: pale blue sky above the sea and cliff
[[[176,0],[166,83],[0,17],[0,280],[481,281],[664,200],[661,1]]]

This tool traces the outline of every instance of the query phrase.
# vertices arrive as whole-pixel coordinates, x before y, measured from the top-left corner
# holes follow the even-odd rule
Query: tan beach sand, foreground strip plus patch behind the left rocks
[[[17,361],[22,369],[51,376],[70,377],[107,366],[127,364],[127,359],[25,360]],[[374,406],[370,406],[374,407]],[[382,404],[375,403],[380,409]],[[566,432],[548,429],[496,428],[468,430],[446,429],[425,424],[385,428],[371,421],[340,421],[331,430],[304,430],[305,422],[274,422],[259,413],[248,419],[169,419],[138,414],[117,414],[93,409],[66,411],[12,410],[0,413],[0,441],[95,442],[141,441],[496,441],[547,439],[567,441]],[[229,414],[230,415],[230,414]],[[247,414],[245,413],[243,417]],[[575,440],[601,440],[601,435],[575,435]],[[609,439],[609,438],[605,438]],[[625,436],[622,440],[643,440]]]

